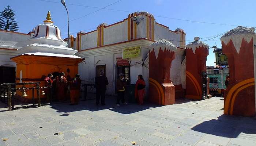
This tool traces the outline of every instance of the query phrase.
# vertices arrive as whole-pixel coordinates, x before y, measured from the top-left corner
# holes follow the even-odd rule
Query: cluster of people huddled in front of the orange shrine
[[[51,95],[55,95],[58,101],[65,101],[70,96],[70,105],[79,103],[81,85],[79,74],[76,74],[75,78],[67,80],[64,72],[55,78],[53,78],[53,74],[49,73],[44,81],[46,86],[52,86],[46,91],[47,100],[50,99]]]

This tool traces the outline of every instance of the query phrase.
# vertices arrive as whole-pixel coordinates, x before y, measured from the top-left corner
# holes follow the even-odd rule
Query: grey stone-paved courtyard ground
[[[256,146],[256,120],[222,115],[223,98],[120,107],[106,100],[14,111],[0,104],[0,146]]]

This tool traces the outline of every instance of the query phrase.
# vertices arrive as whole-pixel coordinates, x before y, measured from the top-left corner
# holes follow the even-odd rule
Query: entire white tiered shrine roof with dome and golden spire
[[[53,25],[50,11],[44,24],[39,24],[33,31],[26,45],[18,50],[20,54],[80,58],[75,55],[78,51],[67,47],[68,44],[61,39],[60,29]]]

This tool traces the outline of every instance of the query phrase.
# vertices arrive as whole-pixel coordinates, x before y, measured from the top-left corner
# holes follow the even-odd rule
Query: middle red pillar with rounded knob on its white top
[[[206,72],[206,57],[209,46],[199,41],[199,37],[186,46],[186,95],[188,99],[201,100],[203,98],[202,72]],[[209,88],[207,86],[207,88]]]

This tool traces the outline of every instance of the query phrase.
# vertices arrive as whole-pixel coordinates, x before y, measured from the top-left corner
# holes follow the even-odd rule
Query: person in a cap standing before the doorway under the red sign
[[[118,74],[118,79],[116,81],[116,88],[117,88],[117,100],[116,100],[116,106],[120,106],[120,100],[123,104],[127,104],[124,99],[124,92],[125,92],[125,80],[124,80],[124,74],[120,73]]]

